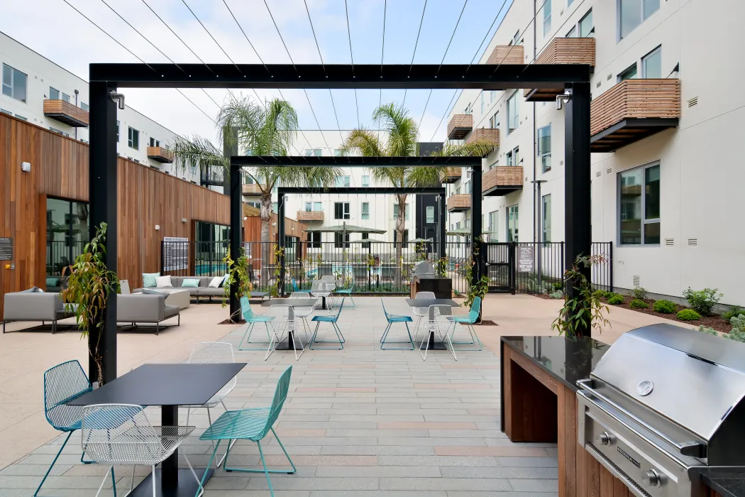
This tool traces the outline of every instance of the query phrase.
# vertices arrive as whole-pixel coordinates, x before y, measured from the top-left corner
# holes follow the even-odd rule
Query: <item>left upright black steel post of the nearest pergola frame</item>
[[[111,92],[116,92],[112,83],[89,85],[89,236],[95,236],[101,223],[108,225],[106,265],[116,272],[116,103]],[[98,366],[93,358],[88,361],[88,376],[91,382],[110,382],[116,378],[116,294],[110,294],[107,299],[104,326],[89,332],[88,347],[92,350],[96,346],[104,377],[98,378]]]

